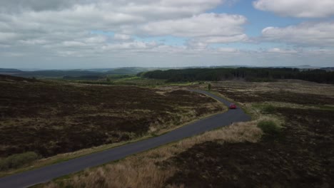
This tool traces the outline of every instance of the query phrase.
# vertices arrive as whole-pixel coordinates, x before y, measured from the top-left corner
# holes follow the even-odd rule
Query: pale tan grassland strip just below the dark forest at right
[[[239,103],[279,102],[300,105],[334,105],[333,85],[301,80],[273,83],[226,81],[212,83],[213,90]]]

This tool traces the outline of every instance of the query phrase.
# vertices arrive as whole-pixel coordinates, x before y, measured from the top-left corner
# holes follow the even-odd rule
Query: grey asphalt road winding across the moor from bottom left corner
[[[230,102],[223,98],[218,98],[216,95],[203,90],[192,90],[197,93],[203,93],[219,100],[221,103],[229,105]],[[213,115],[203,120],[198,120],[189,125],[185,125],[176,130],[172,130],[164,135],[152,137],[147,140],[133,142],[128,145],[114,147],[102,152],[96,152],[91,155],[86,155],[66,162],[51,164],[46,167],[34,169],[20,174],[14,174],[9,177],[0,178],[0,187],[29,187],[34,184],[48,182],[56,177],[61,177],[66,174],[79,172],[88,167],[95,167],[114,160],[120,160],[128,155],[133,155],[139,152],[150,150],[154,147],[166,145],[170,142],[175,142],[186,137],[198,135],[208,130],[213,130],[218,127],[230,125],[231,122],[242,122],[251,120],[251,117],[243,113],[240,108],[236,110],[228,110],[226,113]]]

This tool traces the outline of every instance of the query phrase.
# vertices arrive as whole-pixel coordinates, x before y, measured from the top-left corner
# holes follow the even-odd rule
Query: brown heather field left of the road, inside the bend
[[[50,157],[156,135],[223,106],[205,95],[169,88],[83,85],[2,76],[0,157]]]

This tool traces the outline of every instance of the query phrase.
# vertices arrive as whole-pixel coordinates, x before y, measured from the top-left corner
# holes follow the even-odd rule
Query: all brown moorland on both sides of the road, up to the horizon
[[[227,77],[213,69],[96,80],[2,76],[1,157],[29,151],[42,158],[71,155],[156,136],[223,112],[216,100],[185,90],[210,88],[252,120],[36,187],[333,187],[334,86],[328,84],[333,72],[233,70],[221,72]],[[308,79],[282,79],[291,78],[289,71]]]

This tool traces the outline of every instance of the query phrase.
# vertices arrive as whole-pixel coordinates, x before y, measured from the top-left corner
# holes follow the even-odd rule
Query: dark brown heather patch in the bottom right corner
[[[178,168],[166,185],[333,187],[333,111],[277,108],[275,113],[287,122],[279,137],[196,145],[166,161],[167,167]]]

